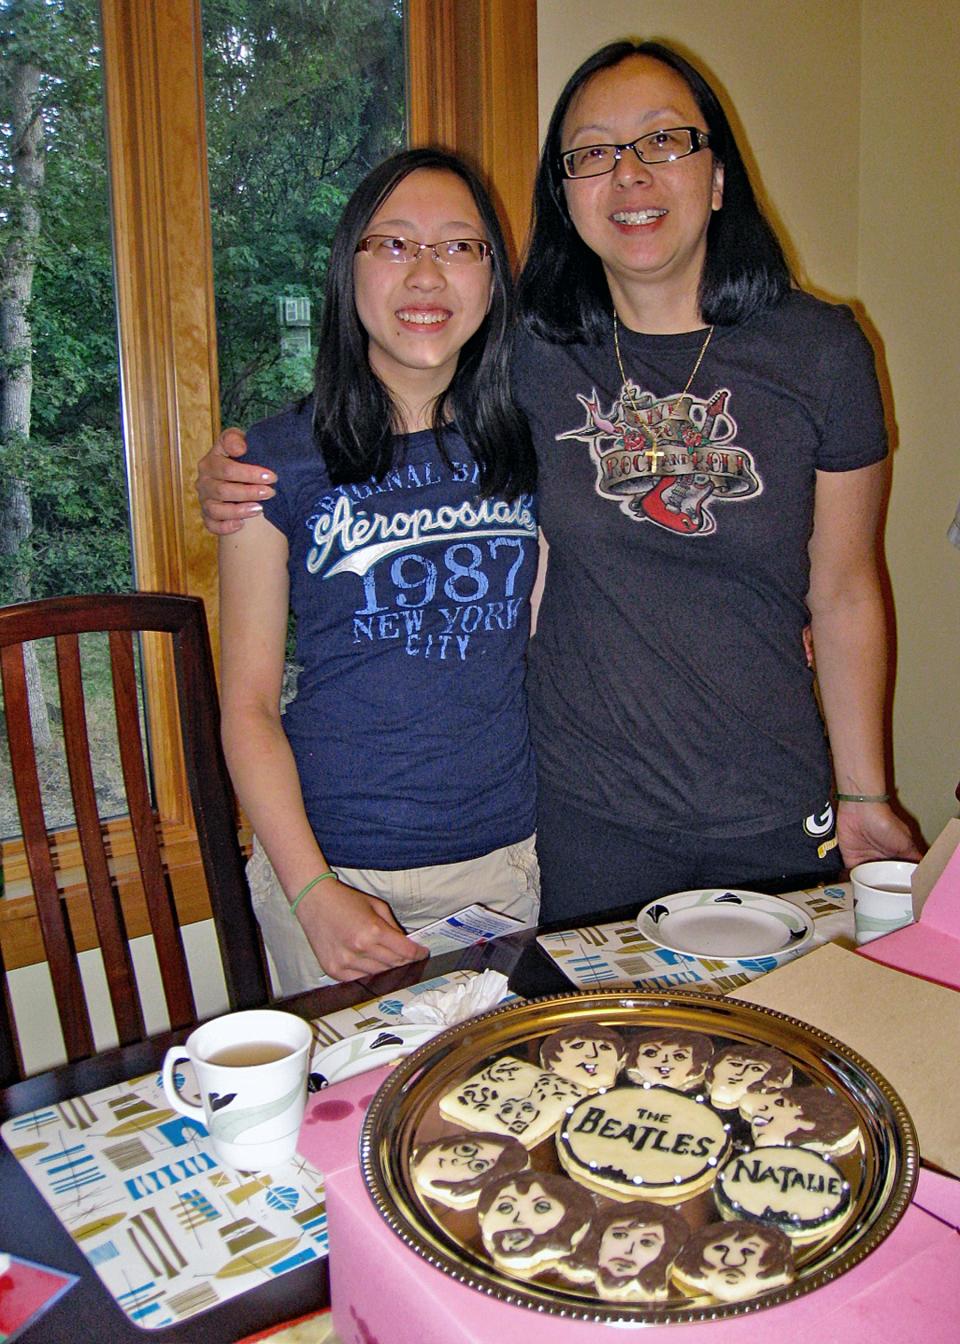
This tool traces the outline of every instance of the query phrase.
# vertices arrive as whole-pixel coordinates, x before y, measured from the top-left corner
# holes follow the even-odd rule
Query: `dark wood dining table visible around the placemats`
[[[609,914],[614,917],[616,911]],[[510,977],[511,989],[526,997],[569,991],[569,981],[541,952],[534,938],[534,930],[524,930],[464,952],[401,966],[383,976],[298,995],[282,1007],[304,1017],[321,1017],[458,968],[483,970],[489,966],[502,970]],[[16,1083],[0,1091],[0,1121],[149,1073],[163,1063],[167,1048],[184,1040],[187,1035],[186,1031],[164,1034],[143,1044],[105,1051],[93,1059],[65,1064]],[[144,1331],[113,1301],[95,1270],[5,1144],[0,1144],[0,1250],[79,1275],[79,1284],[30,1328],[26,1344],[113,1344],[114,1340],[137,1344],[149,1344],[149,1340],[156,1340],[157,1344],[172,1340],[183,1340],[184,1344],[234,1344],[245,1335],[329,1304],[327,1261],[321,1259],[259,1284],[177,1325]]]

